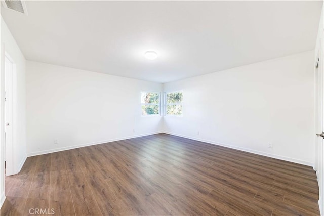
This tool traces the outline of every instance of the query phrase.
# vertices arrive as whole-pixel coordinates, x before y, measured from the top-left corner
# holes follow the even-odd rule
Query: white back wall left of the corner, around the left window
[[[28,155],[162,129],[162,117],[141,117],[140,106],[140,92],[162,92],[160,83],[33,61],[27,61],[26,82]]]

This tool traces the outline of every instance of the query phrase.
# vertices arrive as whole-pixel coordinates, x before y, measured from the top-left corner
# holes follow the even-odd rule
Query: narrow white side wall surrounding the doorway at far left
[[[17,89],[14,90],[16,105],[13,107],[16,110],[17,118],[12,122],[13,133],[15,139],[14,145],[14,173],[18,173],[26,159],[26,81],[25,81],[25,64],[26,60],[20,51],[15,39],[10,33],[6,23],[1,18],[1,150],[0,150],[0,194],[1,199],[4,197],[4,52],[7,52],[16,64],[16,77],[14,83]],[[0,203],[2,204],[2,203]]]

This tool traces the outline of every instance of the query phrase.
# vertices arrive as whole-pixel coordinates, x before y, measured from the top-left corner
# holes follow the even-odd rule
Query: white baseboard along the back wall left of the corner
[[[97,142],[92,142],[92,143],[84,143],[84,144],[79,144],[79,145],[74,145],[74,146],[67,146],[67,147],[62,147],[62,148],[49,149],[49,150],[45,150],[45,151],[31,152],[31,153],[27,154],[27,157],[42,155],[42,154],[49,154],[49,153],[53,153],[53,152],[65,151],[65,150],[70,150],[70,149],[76,149],[76,148],[80,148],[80,147],[110,143],[110,142],[119,141],[119,140],[127,140],[127,139],[136,138],[136,137],[143,137],[143,136],[160,134],[160,133],[163,133],[163,132],[158,131],[158,132],[139,134],[139,135],[128,136],[128,137],[120,137],[120,138],[114,138],[114,139],[109,139],[109,140],[102,140],[102,141],[97,141]]]

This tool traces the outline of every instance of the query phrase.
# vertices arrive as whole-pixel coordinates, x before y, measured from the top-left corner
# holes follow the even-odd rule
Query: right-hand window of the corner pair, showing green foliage
[[[167,115],[182,115],[182,92],[167,92],[166,93],[166,114]]]

